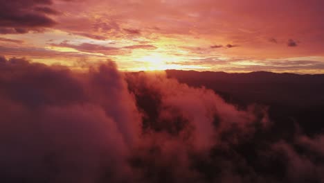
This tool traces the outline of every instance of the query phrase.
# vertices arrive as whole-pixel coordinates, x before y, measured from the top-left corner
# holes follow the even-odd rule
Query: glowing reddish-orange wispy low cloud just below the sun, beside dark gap
[[[161,123],[159,128],[165,128],[163,130],[172,130],[172,124],[165,123],[163,121],[172,121],[179,118],[183,118],[183,123],[188,121],[189,124],[183,124],[189,128],[190,125],[195,129],[195,139],[192,139],[192,146],[198,150],[210,148],[213,144],[212,137],[217,134],[222,134],[222,131],[226,131],[231,128],[231,125],[237,125],[237,128],[245,128],[245,125],[251,125],[255,121],[255,116],[251,111],[238,111],[233,105],[225,103],[225,101],[217,96],[215,93],[208,89],[191,88],[188,85],[181,85],[177,80],[167,79],[163,74],[150,75],[150,74],[139,74],[136,78],[129,78],[130,88],[136,89],[134,93],[136,96],[150,95],[146,92],[141,91],[152,91],[153,96],[150,97],[151,103],[159,103],[159,116],[157,119],[151,119],[151,123],[154,128],[155,123]],[[139,90],[139,92],[138,92]],[[154,97],[155,96],[155,97]],[[159,97],[159,98],[156,98]],[[154,99],[156,98],[156,102]],[[179,116],[174,116],[179,115]],[[150,115],[149,115],[150,116]],[[213,121],[215,116],[219,118],[219,133],[215,133],[213,128]],[[175,119],[173,119],[175,117]],[[156,121],[156,122],[155,122]],[[175,121],[174,121],[175,122]],[[168,127],[170,125],[170,127]],[[253,128],[249,129],[253,131]],[[214,134],[215,133],[215,134]],[[177,133],[176,133],[177,134]],[[235,141],[235,139],[231,139]]]

